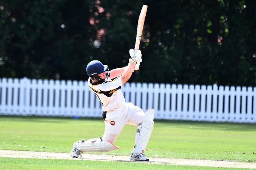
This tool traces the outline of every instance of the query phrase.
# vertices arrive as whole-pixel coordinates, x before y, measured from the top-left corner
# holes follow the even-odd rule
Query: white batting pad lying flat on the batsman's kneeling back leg
[[[107,141],[102,141],[102,139],[93,138],[88,141],[84,141],[83,139],[75,142],[73,147],[82,151],[82,152],[109,152],[111,150],[119,149],[118,146],[115,146],[112,143]]]

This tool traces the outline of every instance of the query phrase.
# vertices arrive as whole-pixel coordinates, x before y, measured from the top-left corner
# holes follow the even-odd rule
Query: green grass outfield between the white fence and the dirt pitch
[[[121,149],[107,154],[130,155],[135,131],[135,126],[126,125],[115,143]],[[75,141],[98,137],[103,132],[104,123],[100,118],[0,116],[0,149],[69,153]],[[145,154],[149,157],[256,162],[255,141],[256,124],[156,120]],[[7,162],[9,159],[0,160]],[[20,159],[13,160],[19,162]]]

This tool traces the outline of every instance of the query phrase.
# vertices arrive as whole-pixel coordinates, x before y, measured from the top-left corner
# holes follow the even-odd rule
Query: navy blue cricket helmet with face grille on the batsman
[[[102,80],[102,79],[100,79],[100,77],[98,77],[98,74],[103,73],[107,70],[108,70],[108,66],[103,65],[98,60],[93,60],[93,61],[89,62],[86,66],[87,75],[89,77],[91,77],[93,80]]]

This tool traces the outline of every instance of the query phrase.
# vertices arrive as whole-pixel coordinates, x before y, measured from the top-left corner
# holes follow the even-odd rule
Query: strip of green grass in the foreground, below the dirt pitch
[[[246,168],[216,168],[176,166],[119,161],[73,161],[56,159],[1,158],[1,170],[247,170]],[[249,169],[248,169],[249,170]]]

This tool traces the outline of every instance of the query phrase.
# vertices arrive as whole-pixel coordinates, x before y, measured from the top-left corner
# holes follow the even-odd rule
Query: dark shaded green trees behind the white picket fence
[[[256,86],[256,2],[3,1],[0,77],[85,80],[101,60],[126,66],[148,5],[135,82]]]

